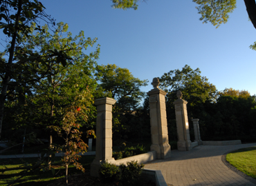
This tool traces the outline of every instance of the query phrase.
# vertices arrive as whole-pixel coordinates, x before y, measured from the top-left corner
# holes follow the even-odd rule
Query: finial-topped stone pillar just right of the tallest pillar
[[[186,151],[192,149],[190,141],[190,129],[188,126],[187,101],[181,99],[181,91],[177,92],[178,99],[174,101],[176,126],[178,132],[178,150]]]

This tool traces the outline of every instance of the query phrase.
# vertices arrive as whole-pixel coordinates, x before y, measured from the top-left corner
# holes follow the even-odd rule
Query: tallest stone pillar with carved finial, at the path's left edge
[[[157,158],[169,158],[171,156],[171,146],[168,140],[165,94],[158,88],[158,78],[153,79],[154,89],[147,92],[149,95],[150,125],[151,125],[151,151],[156,151]]]

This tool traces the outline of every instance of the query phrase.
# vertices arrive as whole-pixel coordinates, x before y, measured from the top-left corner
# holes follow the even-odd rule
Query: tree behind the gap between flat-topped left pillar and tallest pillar
[[[147,80],[135,78],[126,68],[109,64],[101,65],[96,76],[104,94],[117,100],[113,106],[113,138],[122,144],[133,129],[131,123],[138,121],[136,112],[145,96],[140,87],[147,85]]]

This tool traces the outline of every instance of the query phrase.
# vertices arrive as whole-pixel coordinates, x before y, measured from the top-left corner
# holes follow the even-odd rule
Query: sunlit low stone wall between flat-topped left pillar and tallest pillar
[[[111,163],[115,164],[115,165],[120,165],[120,164],[125,164],[129,161],[138,161],[139,164],[141,163],[146,163],[148,161],[153,161],[156,159],[156,151],[152,151],[152,152],[147,152],[145,154],[138,154],[136,156],[130,156],[127,158],[122,158],[120,160],[117,161],[113,161]]]

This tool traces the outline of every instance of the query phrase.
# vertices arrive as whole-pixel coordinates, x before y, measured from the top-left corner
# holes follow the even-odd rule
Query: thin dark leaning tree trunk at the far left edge
[[[19,31],[19,17],[21,14],[22,10],[22,0],[19,0],[18,3],[18,10],[16,14],[16,20],[15,20],[15,31],[12,34],[12,42],[10,44],[9,48],[9,59],[8,59],[8,65],[6,67],[6,75],[3,78],[2,81],[2,90],[1,90],[1,95],[0,95],[0,139],[1,139],[1,134],[2,134],[2,124],[3,124],[3,108],[4,108],[4,103],[6,101],[6,93],[8,89],[8,83],[10,81],[10,73],[12,70],[12,61],[13,61],[13,56],[15,53],[15,43],[17,39],[17,32]]]

